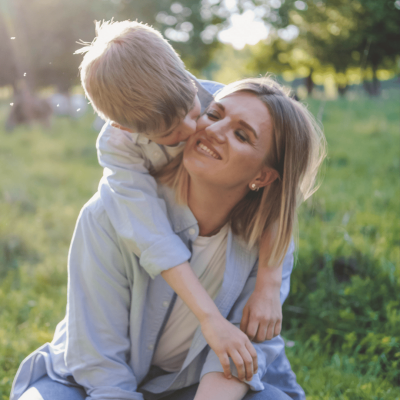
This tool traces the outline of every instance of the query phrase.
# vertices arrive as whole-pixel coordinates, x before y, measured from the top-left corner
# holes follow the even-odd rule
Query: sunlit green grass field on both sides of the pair
[[[327,102],[321,113],[323,105],[310,101],[329,156],[321,188],[300,211],[287,353],[308,400],[400,399],[398,92]],[[102,173],[92,120],[0,128],[2,400],[65,313],[69,242]]]

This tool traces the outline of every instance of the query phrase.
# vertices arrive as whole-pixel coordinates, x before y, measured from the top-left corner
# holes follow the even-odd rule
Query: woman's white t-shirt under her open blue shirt
[[[198,236],[193,242],[190,265],[212,299],[217,296],[224,277],[228,225],[216,235]],[[171,315],[153,355],[152,364],[168,372],[179,371],[199,326],[196,316],[177,297]]]

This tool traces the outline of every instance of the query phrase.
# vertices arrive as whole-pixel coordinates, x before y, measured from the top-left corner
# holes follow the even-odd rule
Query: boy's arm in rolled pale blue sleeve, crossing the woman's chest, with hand
[[[99,193],[118,236],[140,257],[140,265],[149,275],[161,273],[195,314],[226,376],[230,375],[231,357],[238,368],[245,365],[251,379],[254,348],[243,332],[222,317],[187,262],[191,254],[170,226],[165,202],[157,196],[156,181],[139,146],[129,132],[106,127],[97,147],[104,167]]]

